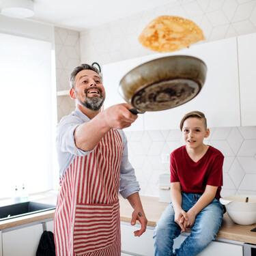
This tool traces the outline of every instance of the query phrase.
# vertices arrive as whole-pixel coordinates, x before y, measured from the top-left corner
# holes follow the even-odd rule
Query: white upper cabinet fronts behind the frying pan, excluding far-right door
[[[156,53],[104,65],[103,77],[106,87],[104,107],[124,102],[117,89],[119,81],[126,72],[141,63],[168,55],[190,55],[202,59],[208,68],[203,89],[197,97],[182,106],[139,114],[139,118],[127,130],[177,129],[183,115],[195,110],[205,113],[209,127],[241,125],[236,38],[197,44],[173,53]]]

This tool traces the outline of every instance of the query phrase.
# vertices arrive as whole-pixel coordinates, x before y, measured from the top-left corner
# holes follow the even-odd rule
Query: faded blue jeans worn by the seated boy
[[[182,209],[187,212],[200,197],[198,194],[182,193]],[[174,222],[173,206],[168,205],[154,229],[155,256],[197,255],[214,240],[223,221],[223,212],[223,205],[218,199],[214,199],[197,214],[190,235],[182,242],[180,248],[173,252],[173,239],[180,236],[181,229]]]

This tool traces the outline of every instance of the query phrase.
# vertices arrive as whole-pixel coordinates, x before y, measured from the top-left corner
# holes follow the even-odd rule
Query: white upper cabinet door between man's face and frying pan
[[[110,63],[102,66],[103,85],[106,91],[104,109],[115,104],[126,102],[118,92],[119,82],[127,72],[132,70],[132,68],[139,66],[140,63],[141,58],[135,58],[127,59],[125,61],[118,61],[115,63]],[[139,115],[137,120],[132,124],[132,126],[124,130],[143,130],[143,119],[144,116]]]

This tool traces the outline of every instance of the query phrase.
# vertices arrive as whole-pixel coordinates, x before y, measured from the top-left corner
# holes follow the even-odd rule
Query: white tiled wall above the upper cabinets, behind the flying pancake
[[[255,0],[180,0],[81,33],[81,61],[100,65],[155,53],[138,42],[143,28],[160,15],[193,20],[204,42],[256,32]],[[199,42],[204,43],[204,42]]]

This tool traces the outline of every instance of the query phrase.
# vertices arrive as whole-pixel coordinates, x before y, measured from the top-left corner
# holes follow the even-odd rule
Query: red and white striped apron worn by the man
[[[119,177],[124,146],[110,130],[87,156],[76,156],[61,178],[55,210],[57,256],[119,256]]]

